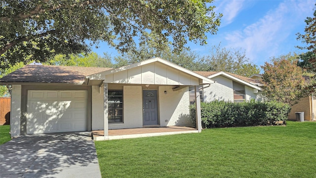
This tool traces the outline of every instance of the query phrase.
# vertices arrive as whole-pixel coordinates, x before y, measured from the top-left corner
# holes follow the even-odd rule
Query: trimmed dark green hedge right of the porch
[[[202,128],[272,125],[275,121],[287,120],[290,110],[291,107],[288,104],[276,101],[201,102]],[[190,106],[190,118],[196,126],[195,105]]]

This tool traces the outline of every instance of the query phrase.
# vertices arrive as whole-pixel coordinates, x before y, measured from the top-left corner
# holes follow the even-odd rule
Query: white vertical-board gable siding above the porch
[[[158,62],[105,76],[106,83],[151,85],[199,85],[199,79]]]

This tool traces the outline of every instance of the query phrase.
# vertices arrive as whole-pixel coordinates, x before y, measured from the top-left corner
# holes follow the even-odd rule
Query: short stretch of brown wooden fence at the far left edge
[[[0,126],[10,124],[11,98],[0,97]]]

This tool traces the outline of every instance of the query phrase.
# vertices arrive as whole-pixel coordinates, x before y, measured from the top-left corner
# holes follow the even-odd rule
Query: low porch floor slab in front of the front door
[[[115,129],[109,130],[107,138],[104,136],[104,130],[92,131],[93,139],[98,140],[111,140],[111,139],[124,139],[124,138],[139,138],[148,136],[161,136],[170,134],[189,134],[198,133],[198,130],[190,127],[151,127],[151,128],[135,128],[135,129]]]

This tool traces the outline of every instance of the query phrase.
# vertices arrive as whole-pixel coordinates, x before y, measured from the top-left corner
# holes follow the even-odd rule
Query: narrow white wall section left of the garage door
[[[21,85],[12,85],[10,133],[11,137],[21,134]]]

